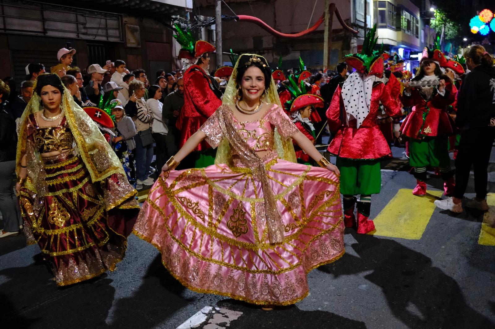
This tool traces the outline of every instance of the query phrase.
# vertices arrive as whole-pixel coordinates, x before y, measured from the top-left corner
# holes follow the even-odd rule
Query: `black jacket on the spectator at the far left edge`
[[[8,101],[0,103],[0,162],[15,160],[17,149],[17,133],[15,121],[7,112]]]

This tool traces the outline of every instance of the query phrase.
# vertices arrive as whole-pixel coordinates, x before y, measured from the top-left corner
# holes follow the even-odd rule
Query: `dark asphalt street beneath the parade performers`
[[[396,159],[382,165],[373,218],[393,213],[389,202],[415,185],[402,151],[394,148]],[[489,180],[495,192],[495,152]],[[466,197],[474,196],[472,184]],[[441,190],[442,181],[433,177],[428,186]],[[402,198],[408,207],[417,197]],[[183,288],[157,250],[134,235],[115,272],[66,288],[55,286],[37,245],[8,237],[0,239],[0,328],[495,328],[495,246],[479,244],[482,222],[494,216],[495,205],[457,216],[435,209],[416,240],[346,229],[346,254],[309,273],[308,297],[268,312]]]

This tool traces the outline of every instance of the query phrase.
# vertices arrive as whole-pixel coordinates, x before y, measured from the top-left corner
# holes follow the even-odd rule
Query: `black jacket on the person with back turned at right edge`
[[[495,126],[495,69],[479,65],[469,72],[457,94],[455,124],[465,129]]]

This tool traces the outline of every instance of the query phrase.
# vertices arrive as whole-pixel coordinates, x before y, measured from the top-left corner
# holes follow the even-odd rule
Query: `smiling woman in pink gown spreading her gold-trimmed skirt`
[[[291,137],[322,167],[297,164]],[[203,139],[218,147],[214,165],[171,170]],[[134,232],[187,288],[293,304],[309,271],[344,254],[338,175],[282,110],[266,60],[243,54],[223,105],[163,166]]]

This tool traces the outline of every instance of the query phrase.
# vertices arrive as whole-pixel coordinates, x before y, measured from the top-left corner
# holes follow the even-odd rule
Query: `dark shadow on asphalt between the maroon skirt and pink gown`
[[[184,289],[163,267],[161,255],[157,254],[139,289],[115,302],[107,328],[153,328],[189,304],[181,296]]]

